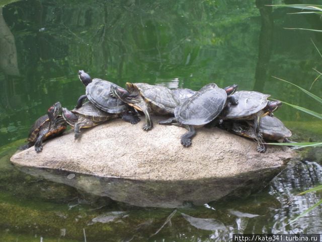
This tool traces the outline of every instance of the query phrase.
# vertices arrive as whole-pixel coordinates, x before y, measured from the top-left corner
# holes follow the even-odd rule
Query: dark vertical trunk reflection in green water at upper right
[[[263,92],[267,80],[268,66],[272,53],[273,27],[272,0],[256,0],[256,7],[261,13],[262,27],[259,39],[258,62],[255,73],[254,90]]]

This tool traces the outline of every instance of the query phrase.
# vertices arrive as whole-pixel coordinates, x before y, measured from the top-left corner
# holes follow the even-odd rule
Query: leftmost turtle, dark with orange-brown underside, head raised
[[[34,145],[36,152],[39,153],[42,151],[43,141],[61,135],[66,130],[67,124],[62,116],[58,115],[60,111],[60,102],[49,107],[47,114],[39,117],[30,129],[27,139],[29,143],[22,149]]]

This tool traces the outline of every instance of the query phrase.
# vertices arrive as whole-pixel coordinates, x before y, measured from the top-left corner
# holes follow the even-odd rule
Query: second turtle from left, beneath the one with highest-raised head
[[[74,128],[75,140],[81,136],[81,129],[91,128],[103,122],[120,117],[117,113],[108,113],[94,106],[91,102],[86,102],[82,107],[68,110],[62,108],[62,116],[65,121]]]

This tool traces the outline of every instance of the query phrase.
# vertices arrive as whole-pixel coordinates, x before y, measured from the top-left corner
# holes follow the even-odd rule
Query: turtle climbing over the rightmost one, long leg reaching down
[[[258,140],[257,151],[264,153],[265,146],[262,144],[260,133],[261,117],[272,113],[282,105],[281,101],[268,101],[269,94],[256,91],[238,91],[234,94],[238,99],[237,105],[227,105],[223,111],[222,119],[253,120],[254,133]]]

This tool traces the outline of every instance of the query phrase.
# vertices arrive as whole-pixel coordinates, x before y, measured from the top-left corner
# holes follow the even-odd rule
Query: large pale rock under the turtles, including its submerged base
[[[31,147],[11,161],[28,173],[117,201],[178,207],[256,190],[294,156],[287,147],[258,153],[255,142],[216,128],[198,129],[185,148],[185,129],[155,125],[144,132],[142,123],[112,120],[77,141],[70,132],[46,142],[39,154]]]

